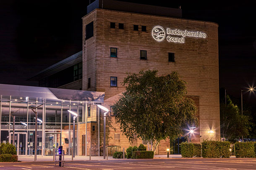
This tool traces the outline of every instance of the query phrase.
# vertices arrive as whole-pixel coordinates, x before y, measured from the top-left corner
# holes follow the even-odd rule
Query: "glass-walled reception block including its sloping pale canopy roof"
[[[53,149],[60,145],[65,154],[70,154],[75,142],[77,154],[78,124],[85,122],[88,106],[103,100],[103,92],[0,84],[0,141],[12,143],[14,140],[18,155],[34,155],[34,152],[53,155]],[[78,113],[75,139],[73,115],[68,110]],[[34,150],[34,111],[38,115],[37,151]]]

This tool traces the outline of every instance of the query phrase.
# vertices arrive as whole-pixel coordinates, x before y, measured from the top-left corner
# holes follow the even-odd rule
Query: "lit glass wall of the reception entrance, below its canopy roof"
[[[70,155],[75,142],[78,154],[78,122],[84,122],[85,102],[71,100],[50,100],[0,95],[0,142],[13,142],[18,155],[53,155],[53,149],[62,145],[65,154]],[[73,115],[75,118],[75,139],[73,139]],[[37,143],[35,143],[35,122],[37,113]],[[15,136],[13,138],[13,118]],[[35,151],[35,145],[37,150]]]

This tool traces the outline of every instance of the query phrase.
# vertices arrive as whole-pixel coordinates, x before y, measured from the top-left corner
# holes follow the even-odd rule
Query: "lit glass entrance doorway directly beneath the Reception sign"
[[[54,153],[57,153],[58,147],[61,145],[61,133],[45,133],[45,156],[52,156]]]

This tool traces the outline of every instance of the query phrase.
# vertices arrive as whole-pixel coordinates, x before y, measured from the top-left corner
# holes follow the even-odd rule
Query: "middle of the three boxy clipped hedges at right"
[[[202,157],[230,157],[230,142],[202,142]]]

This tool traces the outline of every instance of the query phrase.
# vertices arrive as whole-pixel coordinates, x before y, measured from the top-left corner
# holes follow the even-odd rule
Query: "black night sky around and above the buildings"
[[[130,2],[181,5],[183,18],[218,23],[219,87],[239,98],[241,89],[256,86],[256,1]],[[37,86],[27,79],[81,51],[81,18],[88,4],[89,0],[1,0],[0,83]],[[243,98],[256,106],[255,94]]]

